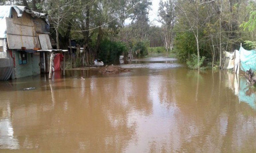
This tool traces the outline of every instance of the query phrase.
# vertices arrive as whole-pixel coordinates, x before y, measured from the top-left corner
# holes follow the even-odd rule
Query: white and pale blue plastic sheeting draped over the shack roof
[[[34,12],[25,6],[3,5],[0,6],[0,38],[6,38],[6,17],[11,18],[12,8],[17,12],[17,16],[21,17],[23,12],[30,14],[33,18],[42,18],[49,26],[48,15],[45,13]]]

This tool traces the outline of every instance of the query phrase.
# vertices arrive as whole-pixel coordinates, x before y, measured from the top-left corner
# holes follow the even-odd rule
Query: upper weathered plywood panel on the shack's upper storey
[[[36,36],[34,27],[14,24],[12,18],[6,18],[7,34]]]

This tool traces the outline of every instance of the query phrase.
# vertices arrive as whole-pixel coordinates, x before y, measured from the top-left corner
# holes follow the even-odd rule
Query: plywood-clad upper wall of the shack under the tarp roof
[[[39,34],[45,33],[45,21],[40,18],[34,19],[29,14],[24,13],[18,18],[15,10],[12,10],[13,18],[6,18],[7,24],[7,42],[9,49],[26,49],[46,48],[51,49],[51,41],[48,34],[41,37],[44,44],[42,47],[39,42]],[[47,35],[47,36],[46,36]],[[49,45],[50,43],[50,45]]]

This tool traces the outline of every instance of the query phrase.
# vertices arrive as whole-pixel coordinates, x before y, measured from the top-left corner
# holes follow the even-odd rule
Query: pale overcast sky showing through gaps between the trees
[[[159,8],[159,2],[160,0],[152,0],[152,6],[151,9],[149,11],[149,20],[152,22],[152,24],[155,24],[157,26],[161,26],[161,23],[159,23],[157,14],[158,14],[158,8]],[[128,25],[131,22],[131,20],[126,19],[124,22],[124,25]]]

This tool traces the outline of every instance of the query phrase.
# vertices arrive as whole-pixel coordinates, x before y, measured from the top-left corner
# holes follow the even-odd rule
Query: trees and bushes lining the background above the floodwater
[[[253,0],[161,0],[158,22],[149,20],[151,0],[1,0],[1,5],[24,5],[48,13],[55,48],[67,49],[69,39],[76,66],[95,59],[114,62],[120,55],[139,58],[169,54],[200,68],[202,60],[222,68],[224,52],[256,47],[256,2]],[[125,20],[130,20],[125,25]],[[131,58],[132,58],[131,57]]]

